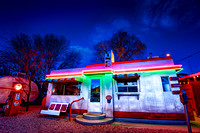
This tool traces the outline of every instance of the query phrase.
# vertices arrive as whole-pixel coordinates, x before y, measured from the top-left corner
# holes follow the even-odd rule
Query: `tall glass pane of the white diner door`
[[[100,79],[91,80],[90,102],[100,102]]]

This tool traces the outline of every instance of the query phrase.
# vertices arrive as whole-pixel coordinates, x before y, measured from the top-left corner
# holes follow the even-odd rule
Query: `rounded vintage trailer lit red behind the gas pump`
[[[28,84],[28,80],[22,77],[13,77],[13,76],[5,76],[5,77],[0,78],[0,104],[6,103],[8,95],[10,94],[12,90],[14,90],[13,83]],[[32,89],[31,89],[31,94],[30,94],[30,99],[29,99],[30,102],[34,101],[38,97],[38,87],[36,83],[31,81],[31,84],[32,84],[31,85]],[[24,90],[28,92],[29,88],[27,85],[24,88]],[[23,92],[22,100],[23,100],[22,102],[27,101],[25,92]]]

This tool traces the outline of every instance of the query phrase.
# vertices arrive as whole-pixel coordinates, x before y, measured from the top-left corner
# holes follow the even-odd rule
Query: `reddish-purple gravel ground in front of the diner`
[[[134,128],[132,126],[119,126],[116,124],[85,126],[69,121],[66,118],[40,117],[38,106],[32,106],[30,111],[21,111],[17,116],[0,116],[0,132],[37,133],[37,132],[137,132],[137,133],[187,133],[173,129]],[[158,127],[158,126],[157,126]],[[185,128],[185,127],[184,127]],[[197,131],[198,132],[198,131]]]

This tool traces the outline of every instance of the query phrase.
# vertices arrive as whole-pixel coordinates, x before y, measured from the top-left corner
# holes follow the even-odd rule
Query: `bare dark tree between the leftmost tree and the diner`
[[[80,62],[80,52],[70,48],[70,42],[64,36],[46,34],[45,36],[34,35],[34,44],[40,47],[41,53],[46,53],[39,72],[35,76],[36,84],[40,85],[41,97],[47,90],[45,83],[39,81],[45,78],[51,70],[76,67]]]

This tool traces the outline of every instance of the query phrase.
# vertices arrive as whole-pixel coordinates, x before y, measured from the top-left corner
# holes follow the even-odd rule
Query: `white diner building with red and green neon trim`
[[[74,113],[105,113],[106,117],[185,119],[180,102],[180,85],[171,57],[114,62],[110,53],[105,63],[51,71],[46,106],[51,102],[71,103]]]

